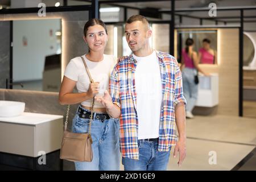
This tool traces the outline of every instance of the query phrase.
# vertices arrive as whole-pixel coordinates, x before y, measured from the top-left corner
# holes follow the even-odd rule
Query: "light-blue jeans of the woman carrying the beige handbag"
[[[81,108],[81,107],[80,107]],[[87,109],[84,109],[89,111]],[[120,149],[119,149],[119,119],[105,119],[101,122],[94,114],[92,135],[92,162],[75,162],[77,171],[119,171]],[[80,118],[77,114],[73,118],[72,132],[87,133],[89,119]]]

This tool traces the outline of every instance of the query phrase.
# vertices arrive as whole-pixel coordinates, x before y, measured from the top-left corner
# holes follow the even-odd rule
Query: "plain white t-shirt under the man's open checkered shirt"
[[[158,138],[162,104],[162,82],[156,52],[137,60],[135,88],[137,93],[138,139]]]

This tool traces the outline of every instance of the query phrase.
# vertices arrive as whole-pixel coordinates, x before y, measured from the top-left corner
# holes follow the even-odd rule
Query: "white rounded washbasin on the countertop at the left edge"
[[[0,117],[15,117],[25,110],[25,102],[0,101]]]

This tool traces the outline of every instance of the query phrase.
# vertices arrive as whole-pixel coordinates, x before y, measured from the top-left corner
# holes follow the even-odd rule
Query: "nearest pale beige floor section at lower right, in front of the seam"
[[[253,149],[254,146],[188,138],[187,157],[183,164],[181,167],[177,166],[179,159],[173,157],[174,148],[172,148],[168,170],[231,170]],[[213,154],[209,155],[210,151],[216,154],[216,163],[209,163],[213,158]]]

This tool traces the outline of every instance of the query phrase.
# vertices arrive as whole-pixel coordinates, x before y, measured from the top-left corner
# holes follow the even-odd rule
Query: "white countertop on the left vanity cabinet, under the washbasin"
[[[0,122],[18,123],[23,125],[38,125],[40,123],[63,118],[63,115],[22,113],[16,117],[0,117]]]

